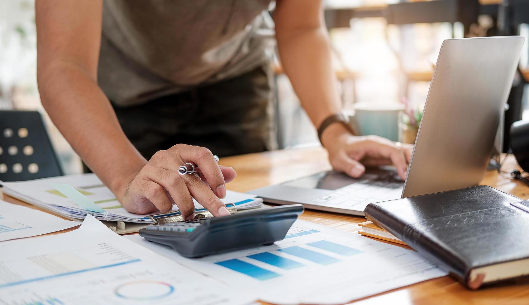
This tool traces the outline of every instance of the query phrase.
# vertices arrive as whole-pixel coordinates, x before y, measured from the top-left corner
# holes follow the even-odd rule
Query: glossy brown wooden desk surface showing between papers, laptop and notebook
[[[227,188],[245,192],[251,189],[303,177],[308,174],[330,169],[327,153],[321,147],[298,150],[282,150],[223,158],[220,164],[233,167],[238,177]],[[488,171],[481,184],[495,187],[519,198],[529,198],[529,188],[525,184],[510,179],[509,172],[517,168],[513,156],[503,164],[504,172]],[[4,196],[5,201],[30,206],[14,198]],[[31,206],[32,207],[32,206]],[[365,221],[362,217],[306,210],[301,219],[339,228],[346,231],[357,229],[357,223]],[[521,234],[527,234],[523,232]],[[366,237],[367,238],[367,237]],[[361,276],[361,274],[359,274]],[[354,285],[354,283],[351,283]],[[452,280],[449,276],[434,279],[402,289],[377,294],[362,299],[360,304],[527,304],[529,303],[529,284],[497,286],[470,291]]]

